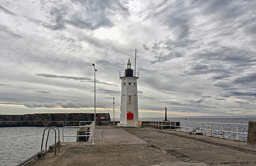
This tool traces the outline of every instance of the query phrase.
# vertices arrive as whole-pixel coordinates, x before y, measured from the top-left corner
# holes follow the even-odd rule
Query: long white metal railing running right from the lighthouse
[[[222,137],[245,141],[247,138],[248,124],[239,123],[208,123],[208,122],[187,122],[187,121],[150,121],[150,127],[158,129],[174,129],[175,131],[190,132],[196,128],[200,133],[211,137]],[[235,135],[236,136],[235,136]],[[224,136],[225,135],[225,136]],[[238,136],[241,138],[239,138]]]

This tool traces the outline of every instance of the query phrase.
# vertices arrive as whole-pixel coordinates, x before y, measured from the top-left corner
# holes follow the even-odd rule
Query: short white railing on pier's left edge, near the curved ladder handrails
[[[81,123],[83,123],[83,122],[90,123],[90,125],[81,126]],[[86,129],[85,129],[85,135],[64,135],[64,129],[66,129],[66,128],[81,129],[82,127],[89,127],[90,131],[86,132]],[[94,144],[94,130],[95,130],[94,121],[80,121],[79,126],[65,126],[62,128],[62,141],[64,142],[64,137],[89,137],[89,142],[92,142],[91,145],[95,145]],[[87,135],[87,134],[89,134],[89,135]]]

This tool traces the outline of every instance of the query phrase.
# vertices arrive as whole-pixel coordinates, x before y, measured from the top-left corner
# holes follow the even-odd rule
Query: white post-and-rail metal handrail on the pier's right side
[[[170,122],[170,125],[163,125],[163,122]],[[175,122],[175,125],[172,125],[171,122]],[[177,122],[180,123],[180,126],[176,125]],[[181,123],[186,123],[186,126],[181,126]],[[192,123],[193,127],[188,127],[188,125],[187,125],[188,123]],[[187,129],[195,129],[196,128],[196,127],[194,127],[195,123],[201,123],[201,127],[199,128],[201,130],[201,133],[202,133],[203,130],[208,130],[208,131],[210,131],[210,136],[211,137],[212,137],[212,131],[222,132],[222,138],[224,138],[224,132],[226,132],[226,133],[236,133],[236,140],[238,141],[238,134],[247,134],[247,133],[238,132],[238,125],[247,125],[248,126],[248,124],[241,124],[241,123],[211,123],[211,122],[188,122],[188,121],[150,121],[150,127],[153,127],[153,128],[158,127],[158,129],[160,129],[160,127],[161,127],[161,129],[163,129],[163,126],[164,127],[170,126],[170,129],[172,129],[172,127],[175,127],[174,128],[175,131],[176,131],[176,127],[180,127],[180,131],[181,131],[181,128],[186,128],[186,132],[187,132]],[[203,128],[202,124],[210,124],[210,129]],[[222,125],[222,130],[212,129],[212,124]],[[149,124],[144,123],[144,125],[149,125]],[[226,130],[224,130],[224,125],[236,125],[236,131],[226,131]]]

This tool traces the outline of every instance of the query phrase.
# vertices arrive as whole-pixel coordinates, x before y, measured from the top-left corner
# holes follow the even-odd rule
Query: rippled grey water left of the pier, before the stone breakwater
[[[41,150],[42,136],[46,127],[0,127],[0,166],[14,166]],[[60,141],[62,142],[62,127]],[[64,135],[76,135],[77,128],[65,128]],[[46,149],[48,129],[44,134],[42,149]],[[56,141],[58,130],[56,129]],[[76,137],[65,137],[66,142],[76,142]],[[54,144],[55,132],[49,131],[48,146]]]

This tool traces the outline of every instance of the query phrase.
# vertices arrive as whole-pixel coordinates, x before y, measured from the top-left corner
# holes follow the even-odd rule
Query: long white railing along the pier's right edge
[[[170,125],[165,125],[164,123],[169,123]],[[174,125],[172,125],[174,123]],[[177,123],[179,125],[177,125]],[[248,124],[240,124],[240,123],[210,123],[210,122],[188,122],[188,121],[150,121],[150,124],[144,123],[142,125],[150,125],[150,127],[163,129],[166,127],[170,127],[169,129],[172,130],[172,127],[175,131],[182,131],[182,132],[189,132],[188,129],[194,130],[195,128],[199,127],[201,133],[205,131],[210,131],[210,136],[212,136],[213,131],[222,132],[222,138],[224,138],[224,133],[236,133],[236,140],[238,140],[238,134],[245,134],[244,132],[238,132],[238,130],[242,129],[243,131],[248,131]],[[243,127],[241,127],[243,126]],[[230,130],[227,130],[228,127]],[[183,128],[183,129],[182,129]],[[176,130],[179,129],[179,130]],[[233,130],[232,130],[233,129]],[[236,131],[234,131],[236,129]]]

